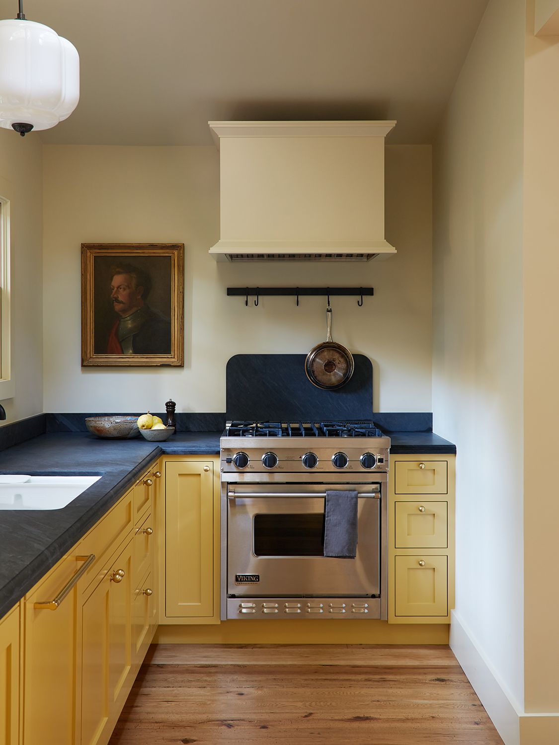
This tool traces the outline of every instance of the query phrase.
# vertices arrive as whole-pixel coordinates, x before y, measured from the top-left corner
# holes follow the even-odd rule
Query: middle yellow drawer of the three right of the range
[[[394,545],[396,548],[446,548],[446,502],[396,502]]]

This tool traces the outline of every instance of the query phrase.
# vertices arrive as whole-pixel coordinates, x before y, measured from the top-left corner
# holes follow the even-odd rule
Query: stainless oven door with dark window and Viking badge
[[[227,595],[379,595],[380,499],[378,486],[372,487],[346,486],[359,492],[357,554],[335,559],[323,555],[328,486],[261,486],[266,495],[257,493],[256,484],[236,486],[234,498],[227,499]]]

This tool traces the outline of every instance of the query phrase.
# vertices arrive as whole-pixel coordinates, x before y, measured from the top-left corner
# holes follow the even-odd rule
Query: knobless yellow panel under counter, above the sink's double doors
[[[95,525],[93,530],[80,542],[80,554],[95,554],[95,562],[89,567],[83,582],[83,590],[89,588],[93,580],[101,579],[101,570],[113,551],[119,547],[132,528],[133,489]]]

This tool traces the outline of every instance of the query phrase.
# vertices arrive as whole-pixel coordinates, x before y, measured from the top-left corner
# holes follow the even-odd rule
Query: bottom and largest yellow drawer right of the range
[[[448,615],[446,556],[394,557],[394,561],[395,615]]]

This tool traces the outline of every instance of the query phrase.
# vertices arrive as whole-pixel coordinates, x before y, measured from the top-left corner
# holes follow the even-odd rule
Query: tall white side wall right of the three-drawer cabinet
[[[517,708],[524,24],[524,0],[490,0],[434,148],[433,428],[458,448],[456,617]]]

